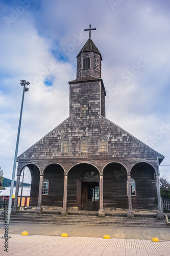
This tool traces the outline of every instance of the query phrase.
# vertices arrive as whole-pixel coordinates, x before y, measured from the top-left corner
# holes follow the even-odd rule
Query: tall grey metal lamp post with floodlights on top
[[[12,179],[11,179],[11,189],[10,189],[10,197],[8,201],[8,217],[5,218],[5,232],[4,237],[5,239],[11,238],[8,237],[9,232],[9,222],[10,222],[10,216],[11,216],[11,206],[12,206],[12,195],[13,195],[13,188],[14,188],[14,179],[15,179],[15,169],[16,169],[16,160],[17,160],[17,154],[18,154],[18,144],[19,144],[19,135],[20,135],[20,126],[21,126],[21,119],[22,119],[22,109],[23,109],[23,99],[25,92],[29,91],[29,88],[26,87],[29,86],[29,82],[26,80],[20,80],[21,86],[23,86],[23,93],[22,93],[22,101],[21,101],[21,109],[20,109],[20,117],[19,117],[19,125],[18,125],[18,134],[16,139],[16,147],[15,147],[15,157],[14,157],[14,165],[13,165],[13,171],[12,171]]]

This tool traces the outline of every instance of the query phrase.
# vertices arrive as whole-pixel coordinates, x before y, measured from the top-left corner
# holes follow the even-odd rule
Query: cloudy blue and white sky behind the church
[[[169,0],[1,0],[0,166],[12,177],[18,155],[68,117],[68,81],[88,39],[102,53],[106,117],[165,156],[170,178]],[[26,181],[29,181],[29,177]]]

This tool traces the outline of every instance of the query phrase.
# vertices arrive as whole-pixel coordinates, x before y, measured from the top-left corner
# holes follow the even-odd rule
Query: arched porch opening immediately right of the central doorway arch
[[[128,209],[127,170],[120,163],[110,163],[103,172],[104,208]]]

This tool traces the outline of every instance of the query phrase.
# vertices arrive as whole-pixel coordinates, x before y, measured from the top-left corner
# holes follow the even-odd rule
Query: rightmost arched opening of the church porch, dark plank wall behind
[[[136,182],[136,196],[132,196],[132,208],[157,209],[154,167],[145,162],[135,164],[131,169],[131,179]]]

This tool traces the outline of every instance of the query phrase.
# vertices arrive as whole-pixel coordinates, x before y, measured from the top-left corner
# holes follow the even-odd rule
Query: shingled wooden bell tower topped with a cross
[[[106,91],[101,77],[102,55],[91,40],[91,25],[89,39],[77,55],[76,80],[70,81],[70,117],[94,118],[105,117]]]

